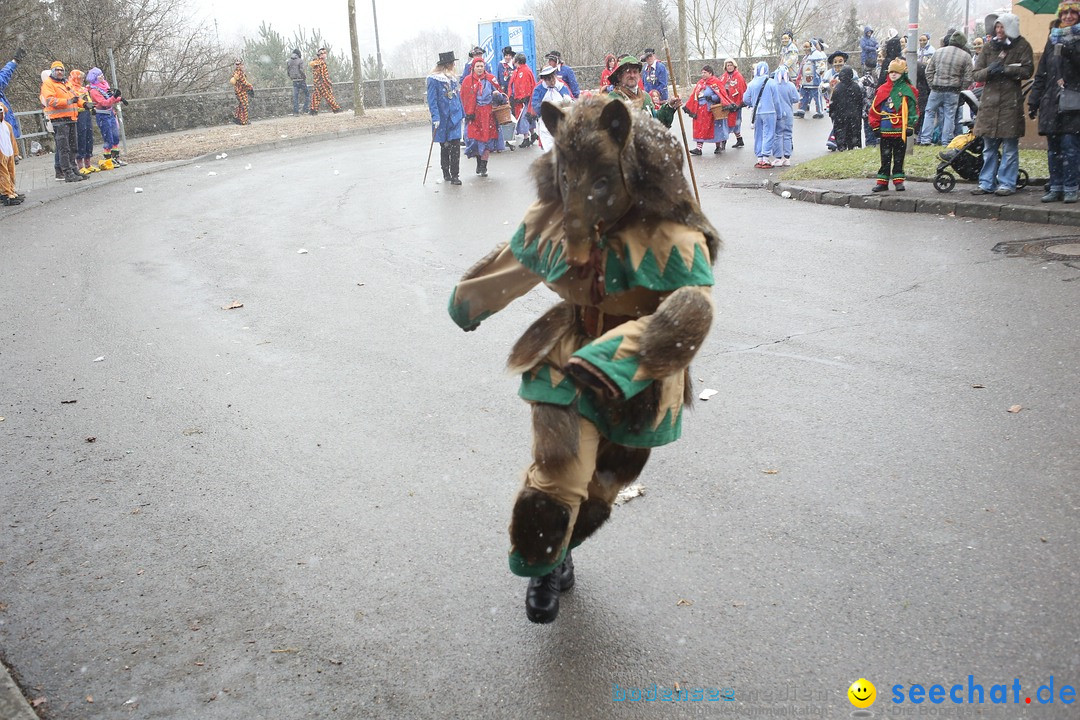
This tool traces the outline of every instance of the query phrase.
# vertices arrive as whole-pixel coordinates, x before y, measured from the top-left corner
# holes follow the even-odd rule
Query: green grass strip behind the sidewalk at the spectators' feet
[[[904,174],[908,177],[931,178],[937,173],[941,159],[937,153],[943,148],[936,146],[917,147],[915,154],[908,155],[904,162]],[[861,148],[845,152],[829,152],[821,158],[808,160],[795,165],[780,176],[781,180],[845,180],[848,178],[877,177],[881,166],[881,157],[877,148]],[[1021,150],[1020,166],[1032,178],[1050,175],[1047,167],[1045,150]],[[954,173],[956,175],[956,173]]]

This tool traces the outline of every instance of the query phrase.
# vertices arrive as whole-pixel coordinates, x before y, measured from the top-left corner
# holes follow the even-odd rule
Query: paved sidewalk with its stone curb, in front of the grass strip
[[[873,179],[770,180],[774,194],[820,205],[860,207],[893,213],[957,215],[986,220],[1013,220],[1042,225],[1080,226],[1080,203],[1041,203],[1043,182],[1031,185],[1008,198],[972,195],[974,184],[957,184],[950,192],[939,192],[928,180],[909,179],[905,192],[870,192]],[[784,193],[787,193],[786,195]]]

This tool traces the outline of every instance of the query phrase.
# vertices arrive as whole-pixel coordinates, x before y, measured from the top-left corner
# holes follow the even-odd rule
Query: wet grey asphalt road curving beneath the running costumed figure
[[[1023,698],[1080,684],[1080,269],[990,250],[1061,229],[724,189],[760,171],[708,150],[719,393],[551,626],[502,365],[553,296],[445,311],[535,151],[421,187],[396,131],[2,220],[0,652],[48,717],[845,718],[861,677],[877,717],[1076,717]],[[890,702],[969,675],[1021,704]],[[612,701],[653,683],[734,699]]]

